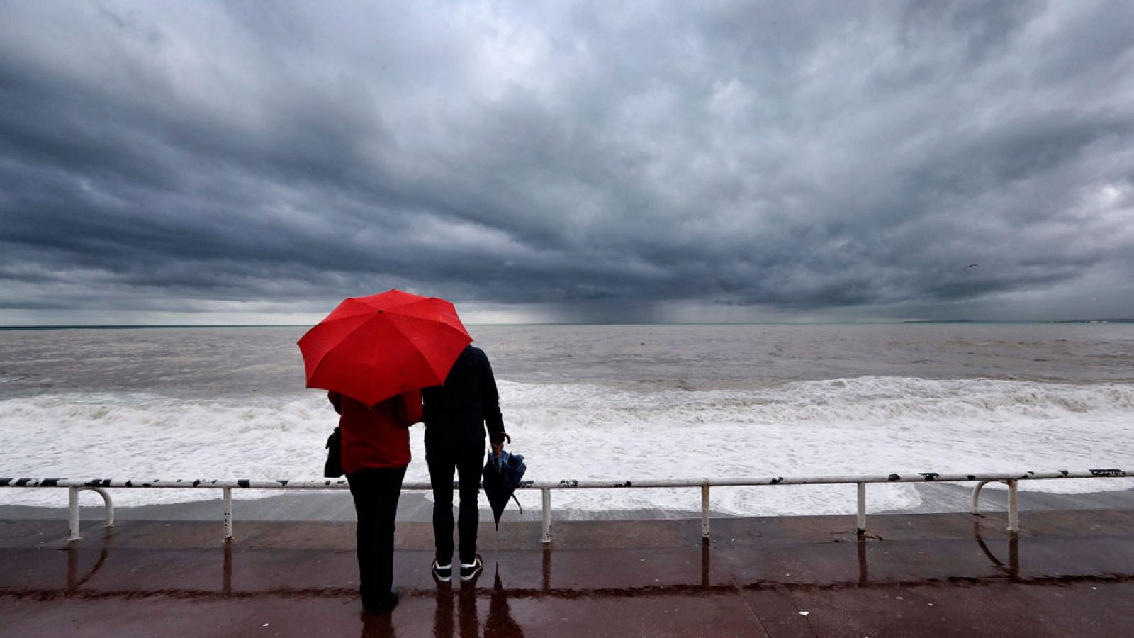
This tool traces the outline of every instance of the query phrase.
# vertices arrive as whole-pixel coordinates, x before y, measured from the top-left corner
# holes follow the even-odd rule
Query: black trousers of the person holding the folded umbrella
[[[431,445],[432,443],[432,445]],[[476,526],[480,522],[476,497],[481,492],[481,467],[484,463],[484,439],[476,444],[448,445],[425,442],[425,462],[429,481],[433,487],[433,542],[437,562],[446,565],[452,561],[452,473],[460,481],[460,513],[457,531],[460,536],[458,553],[462,563],[476,559]]]

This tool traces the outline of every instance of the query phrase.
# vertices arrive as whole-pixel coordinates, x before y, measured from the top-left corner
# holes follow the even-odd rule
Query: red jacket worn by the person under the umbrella
[[[409,426],[422,420],[420,391],[392,396],[373,408],[337,392],[327,393],[327,398],[340,414],[345,472],[409,464]]]

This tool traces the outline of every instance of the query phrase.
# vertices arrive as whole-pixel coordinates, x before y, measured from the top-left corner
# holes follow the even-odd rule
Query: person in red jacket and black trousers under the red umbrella
[[[327,393],[339,417],[342,470],[350,484],[358,524],[358,589],[362,606],[382,614],[398,604],[393,587],[393,519],[409,464],[409,426],[422,419],[420,391],[367,408],[337,392]]]

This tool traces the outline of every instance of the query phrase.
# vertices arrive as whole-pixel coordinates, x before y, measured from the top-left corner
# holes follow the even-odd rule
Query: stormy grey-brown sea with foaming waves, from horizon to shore
[[[321,475],[336,425],[305,327],[0,330],[0,476]],[[660,479],[1134,467],[1134,325],[469,326],[527,478]],[[423,429],[407,481],[425,481]],[[1030,492],[1131,489],[1128,479]],[[850,487],[853,489],[853,487]],[[270,493],[240,492],[254,498]],[[56,490],[3,504],[59,505]],[[120,490],[119,505],[214,498]],[[871,507],[909,509],[911,485]],[[557,510],[695,510],[695,489],[556,493]],[[523,494],[538,507],[538,494]],[[845,513],[847,486],[719,488],[725,514]]]

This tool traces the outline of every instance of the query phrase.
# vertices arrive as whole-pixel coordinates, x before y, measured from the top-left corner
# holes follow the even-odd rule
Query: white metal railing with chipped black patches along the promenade
[[[773,485],[850,485],[857,488],[860,535],[866,532],[866,484],[872,482],[968,482],[978,481],[973,488],[973,514],[980,514],[981,490],[989,482],[1008,485],[1008,531],[1019,530],[1019,513],[1016,501],[1017,484],[1021,480],[1059,480],[1059,479],[1097,479],[1134,477],[1134,471],[1107,468],[1093,470],[1055,470],[1048,472],[976,472],[976,473],[889,473],[861,476],[829,477],[758,477],[743,479],[649,479],[649,480],[575,480],[560,481],[523,481],[518,489],[539,489],[543,503],[543,543],[551,543],[551,490],[552,489],[649,489],[672,487],[701,488],[701,536],[709,538],[709,488],[710,487],[759,487]],[[458,484],[454,482],[454,488]],[[107,527],[115,524],[115,507],[109,488],[126,489],[221,489],[225,518],[225,540],[232,538],[232,490],[234,489],[348,489],[346,479],[319,480],[259,480],[259,479],[153,479],[153,480],[116,480],[116,479],[5,479],[0,478],[0,487],[57,487],[69,490],[70,536],[68,540],[78,540],[78,493],[87,489],[102,496],[107,506]],[[406,482],[405,490],[431,490],[428,482]]]

